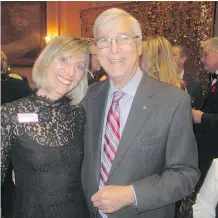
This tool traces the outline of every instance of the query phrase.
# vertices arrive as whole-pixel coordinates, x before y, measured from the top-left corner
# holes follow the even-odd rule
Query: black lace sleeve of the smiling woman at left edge
[[[1,180],[2,183],[10,165],[10,153],[13,144],[13,115],[14,108],[1,106]]]

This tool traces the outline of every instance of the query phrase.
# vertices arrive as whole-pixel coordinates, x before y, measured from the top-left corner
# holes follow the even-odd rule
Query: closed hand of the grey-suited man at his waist
[[[103,213],[113,213],[135,203],[134,191],[131,186],[105,186],[99,189],[91,200],[95,207]]]

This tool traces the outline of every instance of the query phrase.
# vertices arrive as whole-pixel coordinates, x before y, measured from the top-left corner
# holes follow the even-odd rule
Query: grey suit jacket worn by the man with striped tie
[[[82,168],[90,215],[98,190],[101,138],[109,81],[90,86]],[[107,185],[132,185],[137,206],[124,207],[109,218],[173,218],[174,203],[188,195],[199,179],[197,145],[189,95],[144,75],[136,91]]]

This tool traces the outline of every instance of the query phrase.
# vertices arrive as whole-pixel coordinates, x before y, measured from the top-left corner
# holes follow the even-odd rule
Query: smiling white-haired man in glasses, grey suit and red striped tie
[[[138,21],[109,9],[95,21],[97,58],[109,79],[90,86],[82,170],[90,215],[173,218],[199,178],[190,97],[139,68]]]

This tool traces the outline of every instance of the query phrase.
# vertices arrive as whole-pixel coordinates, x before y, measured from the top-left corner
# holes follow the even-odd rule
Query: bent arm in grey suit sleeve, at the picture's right
[[[164,172],[131,184],[136,193],[138,212],[160,208],[182,199],[194,189],[199,176],[190,98],[185,95],[169,127]]]

